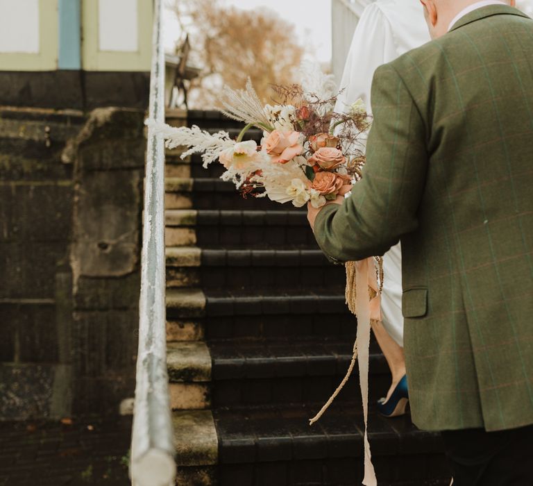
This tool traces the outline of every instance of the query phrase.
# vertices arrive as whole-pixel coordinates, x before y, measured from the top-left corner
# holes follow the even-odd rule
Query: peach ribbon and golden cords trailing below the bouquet
[[[375,271],[375,260],[378,262],[380,287],[378,275]],[[357,315],[357,336],[353,344],[353,355],[341,384],[333,392],[330,399],[321,408],[315,417],[310,419],[310,425],[322,417],[325,410],[335,400],[344,387],[350,374],[352,374],[355,360],[359,359],[359,385],[363,401],[364,417],[364,479],[366,486],[375,486],[378,480],[372,464],[370,444],[366,433],[366,424],[369,416],[369,346],[370,329],[373,323],[381,321],[381,286],[383,284],[382,258],[366,258],[359,262],[346,262],[346,303],[348,309]]]

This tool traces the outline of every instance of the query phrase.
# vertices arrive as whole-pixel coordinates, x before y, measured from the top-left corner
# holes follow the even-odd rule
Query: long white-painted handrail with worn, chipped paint
[[[164,123],[162,3],[153,1],[149,117]],[[131,439],[134,486],[174,485],[174,433],[167,377],[164,261],[164,145],[148,130],[139,300],[139,352]]]

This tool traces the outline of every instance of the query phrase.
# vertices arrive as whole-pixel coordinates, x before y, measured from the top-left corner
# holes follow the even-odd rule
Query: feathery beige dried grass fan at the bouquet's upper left
[[[221,112],[226,117],[243,121],[247,125],[257,126],[262,130],[273,130],[264,112],[263,103],[253,89],[250,78],[246,81],[245,90],[233,90],[229,86],[225,86],[222,91],[221,103],[225,108]]]

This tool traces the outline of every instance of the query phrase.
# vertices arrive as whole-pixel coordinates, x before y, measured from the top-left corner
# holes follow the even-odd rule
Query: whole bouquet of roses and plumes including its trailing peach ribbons
[[[274,105],[264,105],[248,80],[246,89],[223,90],[221,103],[226,116],[246,126],[236,140],[225,131],[210,134],[198,126],[174,128],[166,124],[146,124],[160,133],[166,146],[187,148],[182,158],[201,153],[203,166],[218,161],[226,169],[221,178],[232,181],[244,197],[268,197],[278,203],[292,203],[300,208],[310,203],[324,206],[337,196],[347,194],[362,177],[365,162],[362,144],[371,121],[362,100],[346,112],[335,112],[337,94],[332,76],[314,65],[301,70],[302,82],[273,86]],[[244,141],[251,128],[262,131],[260,145]],[[359,384],[365,422],[365,485],[374,485],[370,446],[366,436],[368,416],[368,366],[370,329],[380,321],[380,286],[382,262],[367,258],[346,262],[346,303],[357,314],[357,339],[353,358],[341,385],[310,420],[313,424],[328,408],[359,360]]]

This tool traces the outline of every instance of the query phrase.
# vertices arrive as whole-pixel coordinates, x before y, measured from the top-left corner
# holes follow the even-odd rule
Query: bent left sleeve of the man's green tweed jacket
[[[418,226],[428,167],[423,119],[392,65],[375,72],[363,178],[344,203],[319,212],[314,235],[333,260],[382,255]]]

